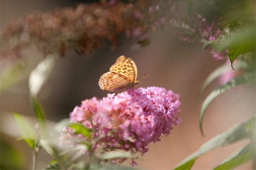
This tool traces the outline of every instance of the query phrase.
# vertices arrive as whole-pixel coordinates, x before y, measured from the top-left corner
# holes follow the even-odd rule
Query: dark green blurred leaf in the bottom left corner
[[[22,170],[25,166],[24,155],[0,139],[0,169],[1,170]]]

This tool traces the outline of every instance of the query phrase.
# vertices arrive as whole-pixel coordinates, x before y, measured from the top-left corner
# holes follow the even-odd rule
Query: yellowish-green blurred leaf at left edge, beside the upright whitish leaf
[[[17,64],[10,65],[8,68],[1,69],[0,72],[0,91],[6,89],[10,85],[17,82],[22,78],[22,73],[25,68],[25,63],[23,61]]]

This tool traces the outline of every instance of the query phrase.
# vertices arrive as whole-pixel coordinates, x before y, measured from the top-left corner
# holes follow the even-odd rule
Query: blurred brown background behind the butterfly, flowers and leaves
[[[68,7],[76,3],[91,1],[79,0],[0,0],[0,30],[10,21],[25,16],[33,11],[48,11],[55,7]],[[202,1],[193,1],[192,14],[200,11],[203,17],[212,22],[216,17],[213,10]],[[47,84],[41,89],[38,100],[46,118],[60,121],[68,118],[69,113],[81,101],[96,96],[102,98],[109,92],[104,92],[98,85],[99,78],[106,73],[120,55],[132,58],[138,68],[138,78],[145,73],[151,76],[140,81],[139,87],[159,86],[173,90],[180,94],[182,103],[180,117],[182,122],[173,128],[171,134],[161,138],[161,142],[151,143],[149,151],[139,156],[138,169],[167,170],[192,154],[212,137],[227,131],[232,126],[250,118],[255,113],[255,93],[250,86],[238,87],[235,90],[218,96],[206,110],[203,121],[205,137],[199,131],[199,112],[202,101],[198,94],[207,76],[225,61],[213,59],[210,51],[202,50],[201,45],[189,44],[177,39],[173,28],[157,28],[150,32],[151,42],[145,48],[133,50],[134,40],[121,37],[121,45],[115,52],[110,51],[106,44],[102,49],[95,50],[91,57],[78,55],[73,51],[59,57]],[[23,55],[28,58],[28,67],[33,69],[43,60],[43,55],[35,49],[24,50]],[[24,73],[26,74],[26,73]],[[5,122],[5,112],[18,112],[22,115],[34,116],[29,101],[28,74],[16,84],[0,93],[0,119]],[[203,98],[218,87],[218,80],[210,84]],[[7,121],[7,120],[6,120]],[[12,131],[16,122],[8,122],[7,131]],[[3,127],[3,123],[2,123]],[[14,128],[15,129],[15,128]],[[26,168],[31,169],[32,152],[24,141],[15,141],[14,136],[0,133],[0,137],[12,143],[24,154]],[[250,141],[243,140],[221,149],[214,150],[199,158],[193,169],[213,169],[225,160],[235,150]],[[38,155],[38,168],[48,165],[51,157],[41,151]],[[130,161],[127,162],[129,165]],[[252,161],[237,169],[253,169]]]

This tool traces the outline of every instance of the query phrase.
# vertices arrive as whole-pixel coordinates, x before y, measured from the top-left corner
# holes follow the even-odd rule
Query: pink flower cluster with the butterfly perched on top
[[[104,146],[105,151],[119,148],[143,154],[150,142],[160,141],[160,137],[170,134],[173,125],[180,123],[179,106],[179,94],[171,90],[129,89],[117,95],[108,94],[102,100],[93,97],[82,101],[70,113],[70,121],[91,129],[92,152]],[[132,164],[135,165],[134,161]]]

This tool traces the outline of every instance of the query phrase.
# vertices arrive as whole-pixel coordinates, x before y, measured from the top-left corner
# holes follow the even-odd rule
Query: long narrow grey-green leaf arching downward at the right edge
[[[202,131],[202,120],[204,118],[205,110],[214,98],[216,98],[221,93],[228,91],[238,85],[251,84],[251,83],[255,83],[255,82],[256,82],[256,74],[254,72],[251,72],[251,73],[249,72],[249,73],[243,74],[239,77],[235,77],[235,78],[231,79],[228,83],[226,83],[226,84],[220,86],[219,88],[215,89],[214,91],[212,91],[207,96],[207,98],[205,99],[205,101],[203,102],[202,107],[201,107],[200,116],[199,116],[199,126],[200,126],[201,134],[204,136],[204,133]]]

